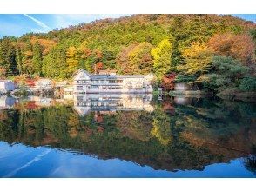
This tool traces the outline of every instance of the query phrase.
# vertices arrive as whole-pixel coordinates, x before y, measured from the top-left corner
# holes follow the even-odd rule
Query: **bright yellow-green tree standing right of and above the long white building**
[[[164,39],[157,48],[152,49],[153,69],[158,80],[167,74],[171,69],[172,44],[168,39]]]

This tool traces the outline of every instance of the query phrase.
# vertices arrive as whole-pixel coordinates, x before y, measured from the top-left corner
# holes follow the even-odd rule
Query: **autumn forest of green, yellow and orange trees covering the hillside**
[[[230,15],[133,15],[0,39],[0,78],[69,79],[77,69],[153,73],[165,90],[256,90],[256,23]]]

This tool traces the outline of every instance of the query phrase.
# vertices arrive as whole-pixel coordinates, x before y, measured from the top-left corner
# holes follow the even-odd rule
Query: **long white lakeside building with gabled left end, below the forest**
[[[84,69],[78,70],[73,77],[75,94],[86,93],[152,93],[152,80],[149,75],[91,75]]]

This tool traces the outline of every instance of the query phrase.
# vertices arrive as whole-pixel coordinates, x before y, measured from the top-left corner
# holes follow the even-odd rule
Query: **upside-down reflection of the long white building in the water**
[[[153,111],[151,94],[75,95],[74,108],[80,115],[89,111],[146,110]]]

